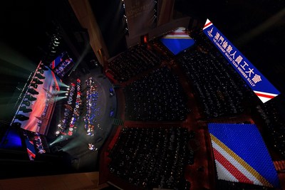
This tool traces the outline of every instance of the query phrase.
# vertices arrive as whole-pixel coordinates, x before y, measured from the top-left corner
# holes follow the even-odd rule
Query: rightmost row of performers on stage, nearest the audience
[[[88,136],[93,136],[95,132],[95,124],[97,122],[97,117],[99,115],[100,107],[97,106],[97,100],[99,93],[97,90],[97,85],[95,84],[93,78],[88,78],[86,80],[86,115],[83,117],[84,126]]]

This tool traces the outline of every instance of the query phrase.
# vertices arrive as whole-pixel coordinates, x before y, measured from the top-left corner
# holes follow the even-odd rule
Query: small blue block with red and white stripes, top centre
[[[185,33],[185,28],[177,28],[174,32],[163,36],[160,41],[166,46],[174,55],[181,51],[190,48],[194,45],[195,41]]]

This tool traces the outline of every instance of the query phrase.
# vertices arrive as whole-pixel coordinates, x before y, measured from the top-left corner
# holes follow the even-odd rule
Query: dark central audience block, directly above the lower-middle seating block
[[[128,120],[185,120],[187,96],[170,69],[159,68],[124,88],[125,117]]]

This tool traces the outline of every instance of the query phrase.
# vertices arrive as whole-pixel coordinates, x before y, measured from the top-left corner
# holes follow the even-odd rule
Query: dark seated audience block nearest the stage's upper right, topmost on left
[[[132,78],[138,73],[159,65],[162,56],[146,45],[138,45],[121,53],[115,60],[109,63],[109,72],[116,80],[121,82]]]

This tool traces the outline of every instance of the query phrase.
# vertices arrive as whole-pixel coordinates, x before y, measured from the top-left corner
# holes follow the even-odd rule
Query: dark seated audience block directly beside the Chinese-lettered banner
[[[222,117],[242,113],[245,83],[225,61],[199,50],[177,57],[202,105],[204,116]]]

